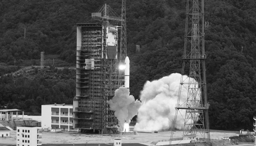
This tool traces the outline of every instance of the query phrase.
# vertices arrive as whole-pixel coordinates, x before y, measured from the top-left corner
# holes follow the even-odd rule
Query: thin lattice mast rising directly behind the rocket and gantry
[[[120,40],[120,60],[119,66],[125,65],[124,60],[127,56],[126,54],[126,8],[125,8],[125,0],[122,0],[122,19],[121,21],[121,40]],[[119,69],[118,75],[118,87],[124,85],[124,70]]]

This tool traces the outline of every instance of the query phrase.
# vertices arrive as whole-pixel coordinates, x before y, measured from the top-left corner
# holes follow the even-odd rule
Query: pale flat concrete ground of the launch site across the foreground
[[[138,133],[139,135],[117,135],[117,134],[83,134],[76,132],[51,133],[42,132],[42,144],[46,143],[113,143],[114,139],[122,139],[122,143],[140,143],[152,145],[151,142],[170,139],[171,131],[159,133]],[[176,131],[173,138],[182,137],[182,131]],[[224,136],[232,136],[235,133],[217,133],[211,132],[211,139],[221,139]],[[200,136],[198,136],[200,137]],[[16,144],[16,130],[10,132],[9,138],[0,138],[1,143]]]

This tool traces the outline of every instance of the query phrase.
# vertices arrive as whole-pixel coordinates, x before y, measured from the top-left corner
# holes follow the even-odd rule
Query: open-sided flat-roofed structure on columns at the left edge
[[[18,112],[22,111],[22,120],[24,120],[24,111],[26,110],[18,110],[18,109],[7,109],[7,110],[0,110],[0,120],[5,120],[5,121],[9,121],[9,120],[13,120],[13,112],[16,111],[16,118],[15,120],[18,120]],[[9,114],[10,112],[10,114]]]

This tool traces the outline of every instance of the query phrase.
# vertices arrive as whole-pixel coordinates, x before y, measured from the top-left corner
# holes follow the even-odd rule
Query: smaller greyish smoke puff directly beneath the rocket
[[[116,89],[115,96],[108,101],[110,110],[115,111],[119,125],[123,127],[125,121],[129,121],[138,113],[141,106],[140,101],[130,95],[130,90],[124,87]]]

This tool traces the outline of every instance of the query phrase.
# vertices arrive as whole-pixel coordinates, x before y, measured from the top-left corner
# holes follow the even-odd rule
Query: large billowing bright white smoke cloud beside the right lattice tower
[[[172,73],[157,81],[147,81],[140,94],[140,106],[137,122],[134,129],[136,130],[164,130],[172,127],[175,116],[175,104],[177,104],[179,87],[179,73]],[[188,82],[189,78],[183,76],[183,80]],[[188,84],[183,84],[181,88],[180,104],[186,104],[188,95]],[[186,110],[180,110],[185,118]],[[178,113],[175,127],[183,128],[184,120]]]

